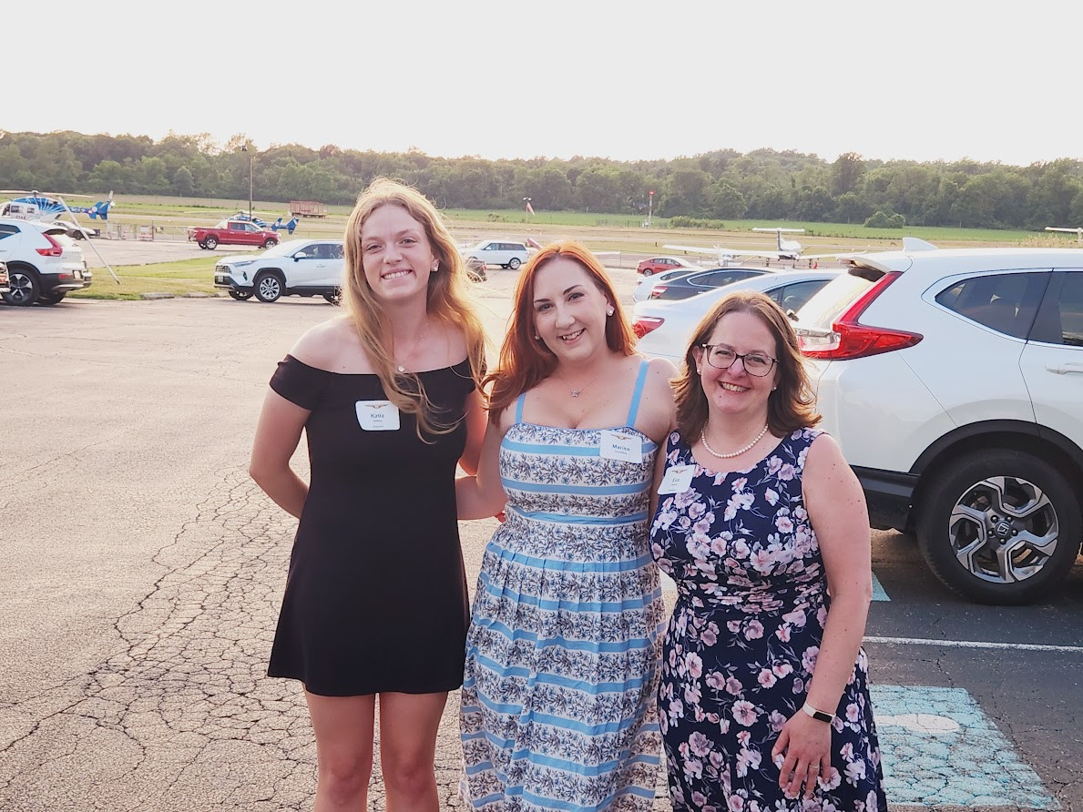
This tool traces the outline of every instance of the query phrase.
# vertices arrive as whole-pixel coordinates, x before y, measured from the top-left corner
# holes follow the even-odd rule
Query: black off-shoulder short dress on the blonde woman
[[[375,375],[342,375],[291,355],[271,388],[310,409],[311,463],[268,673],[325,696],[454,691],[469,611],[455,506],[469,362],[418,374],[448,434],[422,442],[415,419],[362,428],[384,400]],[[358,406],[358,403],[362,405]]]

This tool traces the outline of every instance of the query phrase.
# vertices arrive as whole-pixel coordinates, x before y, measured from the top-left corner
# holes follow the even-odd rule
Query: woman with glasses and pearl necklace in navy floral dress
[[[731,293],[686,363],[651,527],[678,588],[658,687],[674,809],[886,812],[861,649],[869,515],[813,428],[793,327]]]

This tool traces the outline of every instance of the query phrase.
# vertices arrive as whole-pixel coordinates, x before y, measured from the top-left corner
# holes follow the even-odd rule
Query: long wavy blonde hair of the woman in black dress
[[[402,207],[425,228],[432,253],[440,260],[440,270],[429,275],[426,311],[429,316],[464,332],[470,377],[479,390],[485,372],[485,330],[474,310],[462,258],[443,217],[417,189],[387,178],[375,179],[357,197],[345,223],[342,299],[368,363],[383,385],[384,396],[400,411],[416,417],[417,433],[423,440],[425,434],[446,434],[456,424],[440,419],[416,374],[396,371],[391,324],[365,278],[362,264],[361,228],[368,215],[381,206]]]

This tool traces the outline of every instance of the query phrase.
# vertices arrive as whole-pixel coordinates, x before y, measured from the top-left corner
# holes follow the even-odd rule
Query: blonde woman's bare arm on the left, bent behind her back
[[[248,473],[278,507],[300,519],[309,486],[289,467],[311,412],[268,390],[256,425]]]

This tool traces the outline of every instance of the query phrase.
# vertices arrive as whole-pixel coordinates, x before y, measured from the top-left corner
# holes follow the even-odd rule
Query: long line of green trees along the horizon
[[[774,149],[733,149],[671,160],[484,160],[416,149],[376,153],[297,144],[243,152],[206,133],[140,135],[0,130],[0,186],[41,192],[351,204],[377,175],[417,186],[446,208],[653,213],[696,220],[772,220],[1041,228],[1083,225],[1083,163],[1015,167],[970,160],[826,161]],[[651,193],[654,193],[653,196]]]

